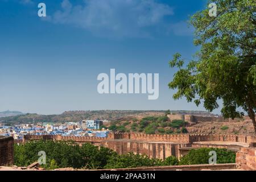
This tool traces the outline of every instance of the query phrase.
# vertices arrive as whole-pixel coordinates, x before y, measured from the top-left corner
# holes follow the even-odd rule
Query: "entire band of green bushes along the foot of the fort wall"
[[[191,150],[183,156],[180,162],[174,156],[165,160],[150,159],[147,155],[135,155],[132,153],[118,155],[109,148],[93,146],[85,143],[79,146],[75,142],[53,142],[51,140],[31,141],[25,144],[15,144],[14,163],[16,166],[28,166],[38,161],[39,151],[46,152],[46,169],[55,168],[131,168],[142,166],[172,166],[184,164],[207,164],[209,151],[216,151],[217,163],[234,163],[236,154],[226,149],[200,148]]]

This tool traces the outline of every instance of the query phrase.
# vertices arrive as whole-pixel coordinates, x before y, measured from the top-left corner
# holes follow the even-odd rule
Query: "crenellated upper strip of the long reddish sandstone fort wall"
[[[242,142],[254,143],[256,137],[246,135],[214,135],[214,134],[172,134],[172,135],[149,135],[143,133],[109,133],[108,137],[75,137],[61,135],[24,135],[26,140],[74,140],[75,142],[102,142],[105,140],[130,139],[146,142],[175,142],[175,143],[192,143],[204,141],[223,141],[223,142]]]

